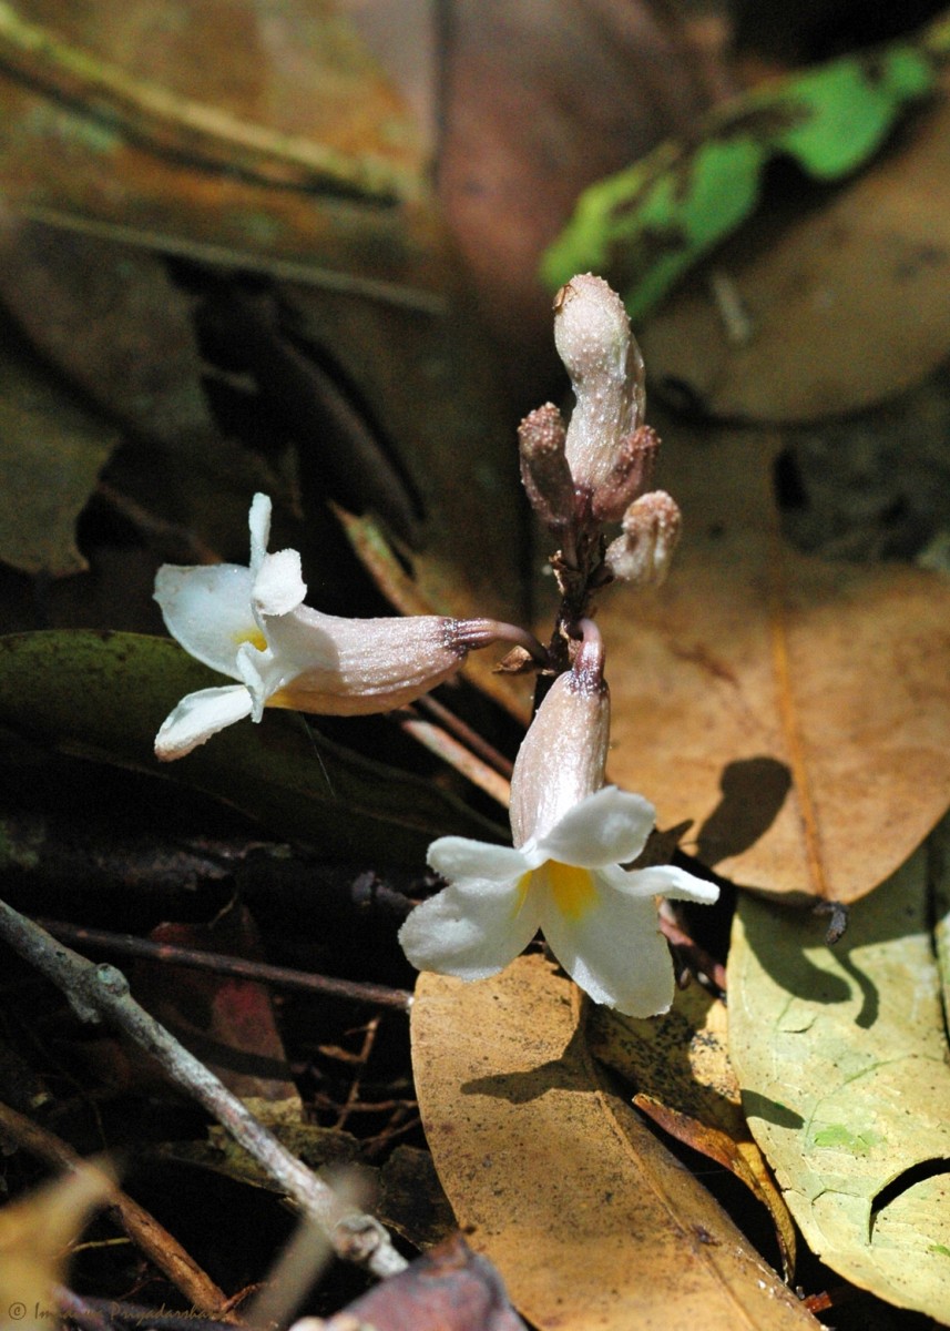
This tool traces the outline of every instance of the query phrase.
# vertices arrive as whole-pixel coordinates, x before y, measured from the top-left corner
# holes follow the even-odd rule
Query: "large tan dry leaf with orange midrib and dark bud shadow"
[[[657,423],[685,536],[659,592],[604,598],[611,777],[742,886],[853,901],[950,803],[950,580],[797,552],[774,435]]]

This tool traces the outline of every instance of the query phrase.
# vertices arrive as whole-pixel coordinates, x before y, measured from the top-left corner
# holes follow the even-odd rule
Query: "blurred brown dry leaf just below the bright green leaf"
[[[941,363],[947,75],[943,88],[850,185],[773,205],[696,270],[643,331],[657,383],[725,419],[816,421],[893,397]]]

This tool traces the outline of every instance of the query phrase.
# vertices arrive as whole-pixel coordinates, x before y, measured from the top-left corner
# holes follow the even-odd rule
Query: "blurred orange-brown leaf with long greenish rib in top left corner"
[[[16,212],[432,306],[422,137],[337,7],[17,0],[0,56]]]

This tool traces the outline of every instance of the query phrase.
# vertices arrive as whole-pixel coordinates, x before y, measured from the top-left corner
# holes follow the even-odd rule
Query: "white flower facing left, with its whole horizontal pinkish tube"
[[[250,507],[250,567],[165,564],[156,600],[173,638],[212,669],[238,680],[189,693],[156,737],[156,753],[184,757],[218,731],[265,707],[358,716],[403,707],[464,663],[470,650],[519,639],[486,619],[416,615],[343,619],[303,604],[295,550],[267,554],[270,499]]]

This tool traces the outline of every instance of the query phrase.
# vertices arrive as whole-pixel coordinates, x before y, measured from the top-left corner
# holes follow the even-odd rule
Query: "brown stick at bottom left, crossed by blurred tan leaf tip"
[[[82,1165],[76,1151],[55,1133],[40,1127],[32,1118],[0,1103],[0,1130],[31,1155],[57,1169],[73,1170]],[[118,1187],[109,1190],[109,1206],[141,1251],[177,1286],[186,1299],[209,1316],[224,1316],[228,1298],[168,1230],[144,1207]]]

